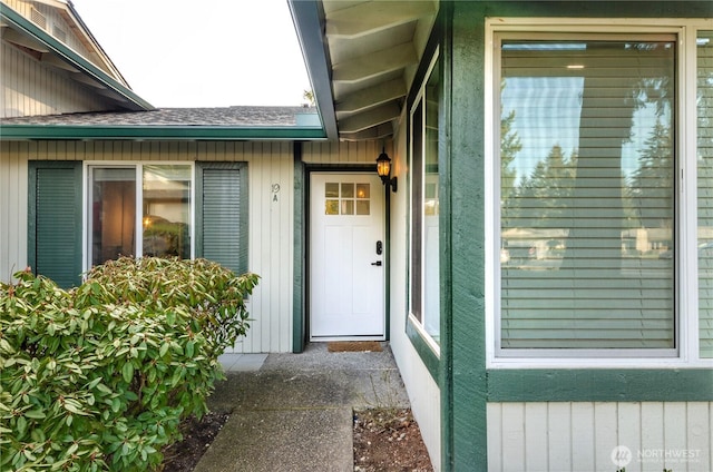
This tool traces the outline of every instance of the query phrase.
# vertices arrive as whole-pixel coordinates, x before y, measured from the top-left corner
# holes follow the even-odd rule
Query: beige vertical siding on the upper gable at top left
[[[2,118],[97,111],[109,107],[96,90],[69,79],[72,72],[45,66],[7,42],[2,42],[0,60]]]

